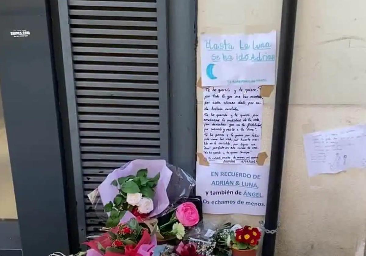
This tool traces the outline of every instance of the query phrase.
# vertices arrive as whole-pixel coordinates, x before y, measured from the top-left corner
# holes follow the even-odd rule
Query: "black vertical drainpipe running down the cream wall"
[[[297,0],[283,0],[279,61],[277,69],[275,115],[273,118],[271,161],[265,228],[277,228],[285,137],[287,125],[288,99],[290,95],[292,52],[294,49]],[[276,233],[265,234],[262,256],[275,253]]]

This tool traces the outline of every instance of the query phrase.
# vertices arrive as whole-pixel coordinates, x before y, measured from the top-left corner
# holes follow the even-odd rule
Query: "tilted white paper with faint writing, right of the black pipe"
[[[308,133],[304,146],[309,176],[366,167],[366,125]]]

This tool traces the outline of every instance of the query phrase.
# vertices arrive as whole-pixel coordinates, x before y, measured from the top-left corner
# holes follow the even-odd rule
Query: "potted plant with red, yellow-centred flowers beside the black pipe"
[[[256,227],[244,226],[232,231],[230,234],[230,244],[232,255],[234,256],[255,256],[261,231]]]

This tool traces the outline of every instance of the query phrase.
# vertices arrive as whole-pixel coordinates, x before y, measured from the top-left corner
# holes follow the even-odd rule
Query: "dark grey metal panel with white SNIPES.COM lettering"
[[[46,2],[0,4],[1,94],[24,256],[69,251]]]

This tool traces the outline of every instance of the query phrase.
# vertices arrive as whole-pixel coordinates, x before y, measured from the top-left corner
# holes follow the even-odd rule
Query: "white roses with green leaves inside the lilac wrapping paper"
[[[153,178],[147,177],[147,169],[140,169],[135,175],[120,177],[111,182],[117,187],[118,194],[112,201],[105,204],[105,212],[109,212],[107,227],[115,227],[126,211],[132,212],[136,217],[146,218],[154,210],[153,198],[155,188],[160,178],[160,173]]]

